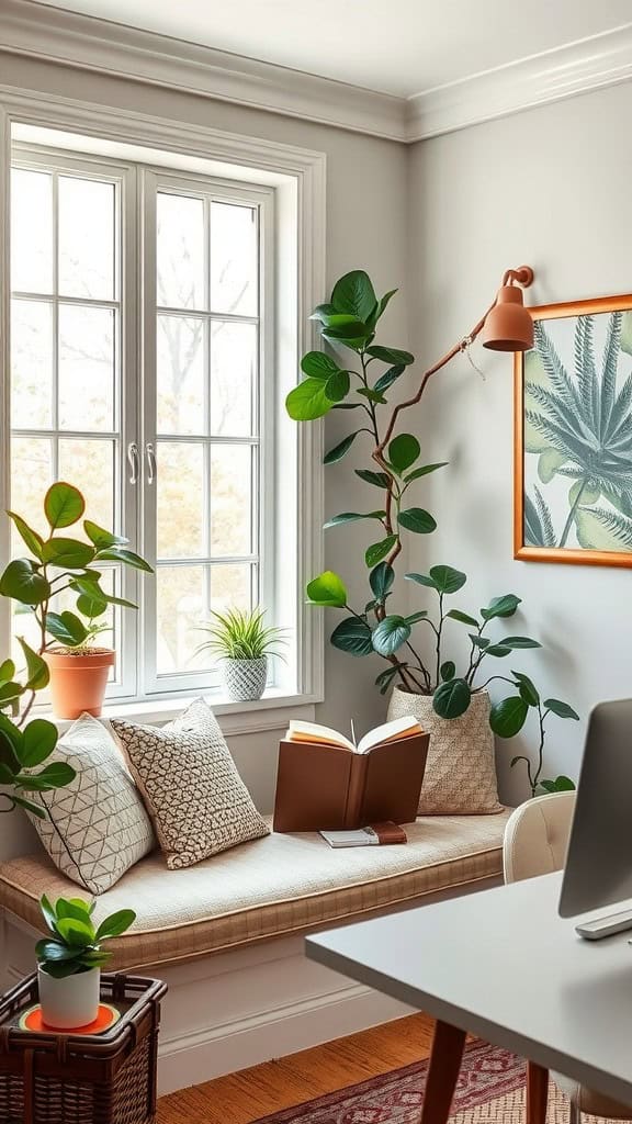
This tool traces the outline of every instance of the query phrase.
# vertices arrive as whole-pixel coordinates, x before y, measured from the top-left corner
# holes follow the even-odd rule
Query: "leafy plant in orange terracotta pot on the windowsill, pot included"
[[[67,528],[78,524],[84,511],[79,489],[58,481],[44,497],[44,534],[17,513],[7,513],[29,556],[9,562],[0,577],[0,595],[35,616],[38,655],[48,667],[53,710],[58,718],[76,718],[84,710],[96,716],[101,713],[115,653],[93,642],[108,628],[103,617],[109,606],[136,608],[133,601],[103,589],[100,563],[152,573],[150,564],[128,550],[128,540],[90,519],[82,524],[85,538],[71,537]],[[63,593],[73,596],[76,611],[52,607]]]

